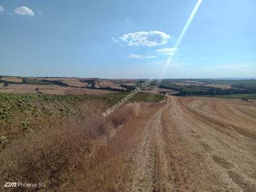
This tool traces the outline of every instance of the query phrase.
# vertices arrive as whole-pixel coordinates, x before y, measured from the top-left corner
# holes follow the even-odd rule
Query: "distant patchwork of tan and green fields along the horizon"
[[[145,81],[147,79],[0,76],[0,93],[104,94],[131,91]],[[254,94],[256,80],[156,79],[143,92],[179,96]]]

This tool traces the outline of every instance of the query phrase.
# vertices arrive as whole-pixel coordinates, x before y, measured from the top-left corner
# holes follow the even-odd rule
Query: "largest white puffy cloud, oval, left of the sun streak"
[[[170,35],[163,31],[139,31],[136,33],[127,33],[118,38],[112,38],[114,42],[125,42],[127,45],[142,45],[154,47],[156,45],[166,44]]]

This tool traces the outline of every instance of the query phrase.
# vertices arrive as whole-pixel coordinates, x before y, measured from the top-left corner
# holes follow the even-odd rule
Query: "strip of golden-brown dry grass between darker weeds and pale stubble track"
[[[145,109],[147,108],[147,111]],[[131,104],[110,117],[110,121],[120,124],[120,116],[129,116],[132,122],[123,119],[122,128],[111,140],[105,140],[91,156],[84,161],[80,172],[69,180],[63,191],[125,191],[132,182],[134,159],[129,156],[143,136],[143,127],[148,118],[157,111],[157,104]],[[116,122],[116,120],[118,120]],[[134,148],[135,147],[135,148]],[[72,182],[73,185],[69,183]]]

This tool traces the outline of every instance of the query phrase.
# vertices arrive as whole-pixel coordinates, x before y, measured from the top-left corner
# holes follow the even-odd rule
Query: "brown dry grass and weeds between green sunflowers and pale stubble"
[[[40,128],[15,138],[0,153],[0,186],[29,181],[45,182],[49,191],[124,189],[132,170],[127,153],[138,141],[143,120],[159,106],[127,104],[108,118],[97,113],[104,108],[100,103],[81,108],[88,113],[84,120],[51,116],[46,123],[41,116],[41,122],[35,119]]]

